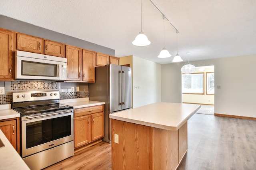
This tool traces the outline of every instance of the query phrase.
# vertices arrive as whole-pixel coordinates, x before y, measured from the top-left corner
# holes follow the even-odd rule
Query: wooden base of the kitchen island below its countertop
[[[176,131],[114,119],[111,126],[112,170],[175,170],[187,151],[187,123]]]

